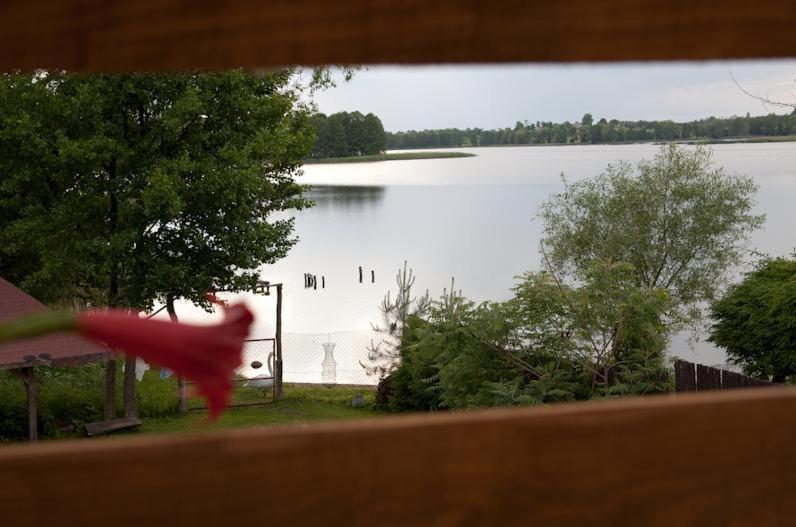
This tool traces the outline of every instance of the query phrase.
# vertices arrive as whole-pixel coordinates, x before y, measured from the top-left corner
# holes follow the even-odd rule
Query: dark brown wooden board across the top
[[[796,55],[792,0],[7,0],[0,70]]]

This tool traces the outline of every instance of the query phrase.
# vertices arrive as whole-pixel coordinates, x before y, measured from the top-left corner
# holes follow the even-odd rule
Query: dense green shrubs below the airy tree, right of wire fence
[[[389,377],[394,411],[543,404],[671,389],[665,291],[626,263],[594,262],[577,287],[526,273],[515,296],[446,293],[410,317]]]

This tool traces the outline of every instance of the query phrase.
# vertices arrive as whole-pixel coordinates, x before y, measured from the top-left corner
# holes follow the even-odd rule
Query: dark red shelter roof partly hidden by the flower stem
[[[44,304],[0,278],[0,322],[46,310]],[[0,344],[0,369],[81,364],[103,359],[108,353],[105,346],[79,335],[56,333]]]

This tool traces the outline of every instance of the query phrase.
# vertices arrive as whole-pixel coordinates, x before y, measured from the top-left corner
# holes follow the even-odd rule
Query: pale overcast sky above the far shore
[[[746,90],[796,103],[796,60],[653,64],[378,66],[316,95],[324,113],[378,115],[388,131],[502,128],[517,121],[762,115]]]

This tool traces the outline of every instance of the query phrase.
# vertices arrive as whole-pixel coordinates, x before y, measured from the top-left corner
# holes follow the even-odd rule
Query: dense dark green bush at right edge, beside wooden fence
[[[762,261],[711,308],[708,340],[747,375],[774,382],[796,375],[796,260]]]

